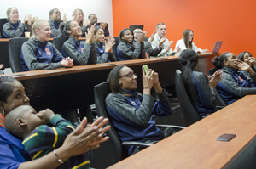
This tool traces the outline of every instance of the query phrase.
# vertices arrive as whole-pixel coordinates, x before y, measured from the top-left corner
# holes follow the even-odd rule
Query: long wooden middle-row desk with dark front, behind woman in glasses
[[[211,69],[212,64],[208,65],[205,59],[212,60],[215,55],[201,55],[199,70],[207,72],[208,69]],[[177,56],[133,59],[56,70],[33,70],[11,75],[16,75],[15,78],[24,85],[26,95],[31,99],[32,107],[36,110],[50,108],[55,113],[59,113],[94,104],[93,87],[101,82],[106,82],[108,73],[116,65],[127,65],[137,73],[139,92],[143,90],[141,77],[142,65],[145,64],[160,74],[162,87],[174,84],[175,71],[181,69],[177,59]]]

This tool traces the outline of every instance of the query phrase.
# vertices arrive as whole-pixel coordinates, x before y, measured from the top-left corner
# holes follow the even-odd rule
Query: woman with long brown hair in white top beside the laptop
[[[180,48],[179,52],[177,52],[175,55],[181,54],[181,52],[185,49],[193,49],[195,52],[200,52],[200,53],[207,53],[208,49],[201,49],[197,48],[195,46],[195,43],[193,42],[194,39],[194,31],[186,29],[183,32],[183,38],[178,40],[175,48]]]

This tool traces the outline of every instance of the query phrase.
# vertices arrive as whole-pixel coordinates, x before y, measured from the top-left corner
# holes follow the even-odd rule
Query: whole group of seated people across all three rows
[[[17,26],[12,34],[17,34],[15,33],[17,30],[20,33],[23,30],[24,33],[25,28],[29,29],[29,26],[26,27],[23,22],[21,24],[18,22],[16,8],[11,8],[9,11],[9,29],[4,28],[3,31],[10,31],[10,27],[14,24]],[[114,39],[108,35],[108,40],[105,40],[106,25],[102,23],[96,26],[95,14],[90,15],[90,29],[87,32],[85,28],[88,25],[84,23],[83,12],[80,9],[74,11],[73,20],[63,20],[61,24],[55,21],[61,20],[60,15],[60,11],[55,8],[50,11],[49,22],[37,20],[33,23],[30,28],[32,37],[23,44],[20,53],[24,71],[145,59],[147,55],[160,57],[176,54],[179,55],[178,61],[182,67],[189,100],[201,118],[217,111],[215,94],[212,90],[215,87],[227,105],[247,94],[256,93],[256,59],[249,52],[243,52],[237,58],[230,52],[216,56],[212,59],[212,64],[219,70],[207,77],[197,70],[199,63],[197,51],[205,53],[207,49],[201,50],[195,46],[194,32],[191,30],[184,31],[183,39],[179,40],[176,48],[172,50],[172,41],[169,42],[165,37],[166,25],[163,23],[156,25],[156,31],[147,42],[144,42],[146,31],[123,29],[119,34],[117,55],[114,56],[112,51]],[[26,17],[31,18],[31,16]],[[79,40],[84,33],[85,42]],[[48,42],[52,34],[55,37],[68,37],[61,52]],[[122,142],[154,143],[170,136],[173,132],[172,128],[166,128],[162,132],[152,119],[152,115],[172,114],[166,92],[160,86],[160,75],[151,69],[146,72],[144,66],[142,72],[143,93],[137,92],[137,75],[125,65],[114,67],[108,78],[106,77],[112,92],[105,100],[106,108]],[[154,100],[151,96],[153,88],[158,100]],[[2,149],[0,167],[89,167],[89,161],[83,154],[90,149],[98,148],[100,143],[108,140],[108,137],[102,137],[110,128],[103,127],[108,119],[100,117],[85,129],[86,119],[84,119],[74,130],[69,121],[55,115],[49,109],[38,113],[33,110],[29,106],[30,99],[26,97],[24,90],[22,84],[15,78],[0,77],[0,147]],[[47,123],[55,127],[48,127]],[[144,148],[125,146],[125,149],[128,155],[133,155]]]

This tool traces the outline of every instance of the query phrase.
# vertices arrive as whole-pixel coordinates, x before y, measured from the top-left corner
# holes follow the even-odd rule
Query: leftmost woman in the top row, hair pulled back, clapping
[[[21,23],[19,22],[19,12],[15,7],[8,8],[6,11],[7,20],[9,22],[3,25],[3,37],[25,37],[26,31],[31,31],[32,28],[32,15],[26,14]],[[26,23],[27,20],[27,24]]]

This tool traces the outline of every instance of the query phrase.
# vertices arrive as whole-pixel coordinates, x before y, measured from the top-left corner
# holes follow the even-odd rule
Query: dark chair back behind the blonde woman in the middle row
[[[9,39],[9,65],[13,73],[20,72],[20,50],[24,42],[28,41],[28,37],[14,37]]]

